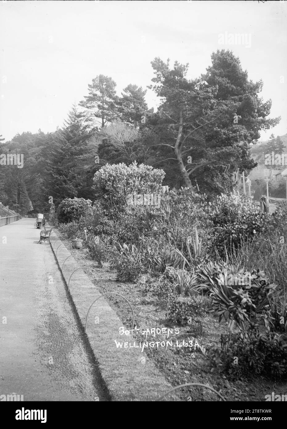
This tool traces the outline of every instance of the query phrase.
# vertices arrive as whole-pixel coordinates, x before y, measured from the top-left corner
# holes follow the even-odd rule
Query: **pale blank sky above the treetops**
[[[117,94],[150,85],[154,57],[189,63],[190,78],[231,49],[281,123],[262,133],[287,133],[287,0],[257,1],[0,1],[0,134],[54,131],[98,74]],[[219,33],[251,35],[246,45],[220,45]],[[247,36],[247,39],[248,40]],[[280,76],[284,82],[280,83]],[[282,78],[281,78],[282,80]],[[149,107],[156,96],[148,90]]]

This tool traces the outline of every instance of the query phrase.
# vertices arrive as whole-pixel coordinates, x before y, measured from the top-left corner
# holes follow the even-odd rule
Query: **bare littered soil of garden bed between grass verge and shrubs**
[[[72,251],[72,245],[70,250]],[[265,402],[265,396],[271,395],[272,392],[275,392],[275,395],[287,394],[287,381],[282,383],[282,381],[270,381],[261,377],[253,378],[252,380],[231,381],[222,374],[211,372],[209,362],[203,356],[197,344],[206,347],[206,349],[212,345],[220,345],[221,334],[227,334],[228,332],[226,322],[221,321],[221,323],[218,323],[218,319],[208,315],[206,317],[196,317],[198,323],[192,326],[172,325],[167,320],[166,308],[161,308],[162,306],[158,305],[157,299],[153,296],[146,295],[143,292],[143,286],[116,281],[116,273],[101,269],[98,263],[90,259],[87,250],[79,249],[76,252],[83,255],[87,260],[87,266],[96,269],[102,281],[105,281],[103,293],[108,291],[120,293],[131,303],[135,313],[135,326],[138,329],[142,329],[142,332],[147,329],[150,331],[152,328],[170,329],[168,338],[167,331],[161,334],[157,334],[155,331],[155,335],[141,333],[140,331],[137,331],[138,333],[135,333],[136,331],[129,332],[132,329],[130,306],[119,296],[105,296],[111,308],[122,320],[122,326],[129,332],[122,335],[123,347],[125,342],[131,344],[131,346],[135,342],[135,345],[140,346],[141,349],[143,342],[161,342],[158,346],[155,344],[153,348],[150,345],[144,347],[142,363],[144,365],[147,359],[151,359],[173,387],[185,383],[205,384],[220,393],[227,401]],[[79,263],[80,260],[79,258]],[[79,265],[82,264],[80,263]],[[99,285],[99,279],[96,275],[93,275],[93,272],[87,272],[87,275],[96,285]],[[176,328],[177,330],[175,330]],[[169,341],[168,344],[167,341]],[[185,344],[192,344],[192,347],[180,347],[183,341],[185,341]],[[192,343],[188,341],[192,341]],[[129,345],[126,347],[129,347]],[[204,387],[184,387],[180,391],[182,401],[220,400],[216,393]]]

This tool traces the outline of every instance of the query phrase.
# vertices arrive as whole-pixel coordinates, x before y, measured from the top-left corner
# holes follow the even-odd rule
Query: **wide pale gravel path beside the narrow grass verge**
[[[0,395],[106,401],[50,245],[38,244],[34,222],[0,229]]]

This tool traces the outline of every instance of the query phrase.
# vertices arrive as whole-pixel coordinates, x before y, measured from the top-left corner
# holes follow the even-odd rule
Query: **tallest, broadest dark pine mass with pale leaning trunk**
[[[224,50],[213,53],[207,73],[192,81],[186,78],[188,64],[176,61],[170,69],[169,60],[155,58],[152,67],[150,88],[162,100],[147,121],[156,134],[149,149],[157,167],[177,168],[189,188],[198,184],[203,192],[224,192],[233,171],[256,166],[249,143],[280,121],[266,118],[271,100],[264,103],[258,95],[263,82],[248,81],[239,59]]]

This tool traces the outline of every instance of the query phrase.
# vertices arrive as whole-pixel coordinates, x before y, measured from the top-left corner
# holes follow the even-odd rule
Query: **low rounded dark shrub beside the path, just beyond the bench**
[[[57,210],[57,218],[61,223],[79,221],[92,213],[92,201],[84,198],[65,198]]]

